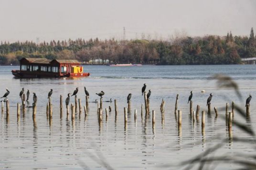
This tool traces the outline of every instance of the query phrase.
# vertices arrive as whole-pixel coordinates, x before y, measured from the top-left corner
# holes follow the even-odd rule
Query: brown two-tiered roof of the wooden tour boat
[[[46,58],[21,58],[21,60],[27,60],[30,63],[38,63],[38,64],[50,64],[53,61],[56,61],[60,64],[80,64],[77,60],[65,60],[65,59],[54,59],[48,60]]]

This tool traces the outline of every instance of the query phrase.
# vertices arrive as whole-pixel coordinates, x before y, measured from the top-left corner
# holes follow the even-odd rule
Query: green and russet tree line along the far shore
[[[82,63],[99,64],[156,64],[209,65],[239,64],[241,58],[256,57],[256,37],[251,28],[249,37],[207,35],[204,37],[177,37],[170,41],[76,39],[42,42],[2,42],[0,65],[18,65],[22,57],[47,59],[77,59]]]

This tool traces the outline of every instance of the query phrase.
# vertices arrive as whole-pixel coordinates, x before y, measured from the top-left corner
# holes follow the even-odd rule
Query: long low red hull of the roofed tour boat
[[[47,77],[87,77],[90,76],[90,73],[71,73],[71,74],[59,74],[52,72],[29,72],[29,71],[20,71],[20,70],[11,70],[11,73],[16,78],[47,78]]]

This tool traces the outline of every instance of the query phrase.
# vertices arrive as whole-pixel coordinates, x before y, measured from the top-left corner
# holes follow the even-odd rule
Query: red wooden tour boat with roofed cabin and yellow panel
[[[11,72],[18,78],[90,76],[90,73],[83,73],[83,67],[77,60],[45,58],[21,58],[20,70],[11,70]]]

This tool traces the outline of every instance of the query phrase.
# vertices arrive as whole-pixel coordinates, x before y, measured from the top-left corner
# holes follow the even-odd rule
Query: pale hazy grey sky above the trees
[[[0,0],[0,40],[249,35],[256,0]]]

